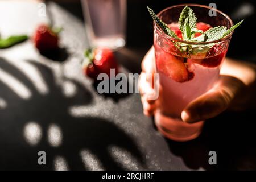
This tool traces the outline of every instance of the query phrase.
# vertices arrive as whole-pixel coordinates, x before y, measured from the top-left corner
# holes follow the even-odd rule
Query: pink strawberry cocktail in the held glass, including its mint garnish
[[[155,124],[166,137],[186,141],[201,133],[204,121],[185,123],[181,112],[218,80],[234,28],[221,11],[209,16],[203,5],[176,5],[155,15],[154,48],[159,73]]]

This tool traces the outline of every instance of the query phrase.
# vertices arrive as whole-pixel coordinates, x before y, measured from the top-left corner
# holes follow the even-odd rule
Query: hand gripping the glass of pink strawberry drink
[[[154,64],[154,47],[151,47],[142,61],[142,73],[147,73],[147,77],[141,77],[138,83],[143,111],[148,116],[153,115],[158,108],[157,100],[148,97],[154,92],[148,82],[152,79],[150,76],[154,75],[148,74],[155,72]],[[221,67],[220,78],[214,87],[191,101],[182,111],[181,119],[187,123],[194,123],[213,118],[226,109],[243,110],[255,107],[255,77],[255,64],[226,58]]]

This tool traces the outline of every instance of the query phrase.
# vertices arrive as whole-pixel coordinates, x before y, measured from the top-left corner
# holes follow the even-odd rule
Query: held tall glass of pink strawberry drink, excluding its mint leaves
[[[186,5],[176,5],[162,10],[158,16],[163,22],[177,26],[179,15]],[[195,12],[197,22],[212,27],[233,26],[232,20],[217,11],[210,17],[210,8],[189,4]],[[177,27],[175,27],[177,28]],[[201,133],[204,121],[189,124],[181,121],[181,111],[189,102],[211,89],[218,80],[221,63],[228,50],[231,35],[214,42],[185,42],[171,38],[154,23],[154,47],[156,72],[159,73],[159,109],[155,113],[155,124],[160,133],[176,141],[187,141]],[[184,54],[175,44],[184,43],[196,48],[214,44],[206,53]],[[180,64],[182,63],[182,65]],[[186,69],[187,68],[187,69]],[[183,77],[184,76],[184,77]]]

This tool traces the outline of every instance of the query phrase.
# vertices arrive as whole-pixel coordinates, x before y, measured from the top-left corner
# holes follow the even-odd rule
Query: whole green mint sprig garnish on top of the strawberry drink
[[[165,34],[171,36],[172,38],[179,39],[175,32],[173,32],[166,23],[164,23],[150,7],[147,7],[152,19],[158,24],[158,26],[164,31]],[[243,20],[231,28],[227,29],[225,26],[218,26],[209,28],[207,31],[203,32],[201,30],[197,30],[196,23],[197,18],[193,10],[185,6],[184,9],[180,13],[179,18],[179,29],[182,33],[183,40],[188,42],[212,42],[215,40],[219,40],[229,35],[234,29],[236,29]],[[195,38],[195,34],[199,32],[201,35]],[[174,41],[173,41],[174,42]],[[174,42],[174,45],[180,49],[180,51],[185,52],[187,55],[196,54],[196,53],[204,53],[207,52],[212,46],[216,43],[202,44],[202,45],[191,45],[187,43]]]

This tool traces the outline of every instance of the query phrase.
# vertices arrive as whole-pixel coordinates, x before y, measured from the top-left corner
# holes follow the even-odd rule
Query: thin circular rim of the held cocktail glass
[[[215,10],[217,11],[218,13],[220,13],[221,15],[223,15],[226,19],[228,19],[228,21],[230,22],[230,26],[232,27],[233,26],[233,21],[231,18],[229,18],[228,15],[226,15],[225,13],[223,13],[222,11],[220,10],[217,10],[215,8],[211,8],[209,6],[205,6],[205,5],[200,5],[200,4],[195,4],[195,3],[183,3],[183,4],[179,4],[179,5],[174,5],[174,6],[170,6],[170,7],[167,7],[163,10],[161,10],[157,15],[160,16],[160,14],[162,14],[164,11],[167,11],[169,9],[172,9],[172,8],[175,8],[175,7],[180,7],[180,6],[194,6],[194,7],[203,7],[203,8],[206,8],[206,9],[211,9],[211,10]],[[191,41],[186,41],[186,40],[182,40],[182,39],[176,39],[176,38],[172,38],[171,36],[167,35],[166,33],[163,32],[163,30],[158,26],[158,24],[155,23],[154,21],[154,27],[157,27],[159,29],[160,32],[162,32],[162,34],[164,34],[164,36],[166,36],[168,39],[171,39],[171,40],[174,40],[176,42],[181,42],[181,43],[186,43],[186,44],[196,44],[196,45],[202,45],[202,44],[210,44],[210,43],[218,43],[218,42],[222,42],[222,41],[225,41],[225,40],[228,40],[234,31],[230,32],[228,35],[226,35],[224,38],[221,38],[221,39],[218,39],[218,40],[213,40],[213,41],[209,41],[209,42],[191,42]]]

